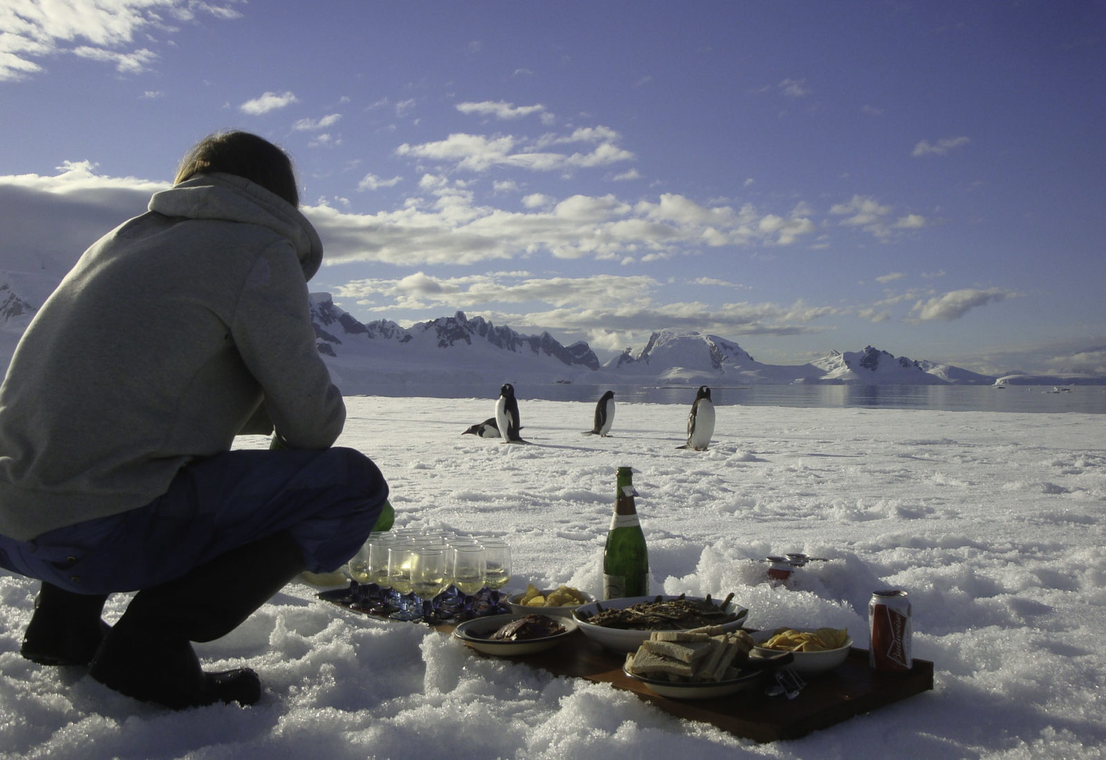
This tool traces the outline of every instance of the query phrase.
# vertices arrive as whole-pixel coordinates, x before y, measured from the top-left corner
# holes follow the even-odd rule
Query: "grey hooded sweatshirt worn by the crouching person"
[[[294,207],[223,173],[156,193],[90,247],[0,386],[0,534],[142,507],[239,433],[333,444],[345,407],[306,285],[322,256]]]

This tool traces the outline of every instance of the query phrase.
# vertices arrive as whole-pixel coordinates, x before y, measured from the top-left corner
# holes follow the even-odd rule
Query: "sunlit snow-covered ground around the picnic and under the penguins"
[[[251,708],[169,712],[19,655],[38,583],[0,576],[0,754],[94,758],[1093,758],[1106,745],[1106,426],[1096,414],[521,402],[531,445],[461,435],[490,399],[351,398],[340,441],[376,460],[399,526],[493,532],[523,588],[598,591],[615,468],[632,465],[658,592],[726,594],[754,626],[848,627],[870,591],[914,602],[933,692],[757,745],[606,685],[482,658],[422,626],[347,613],[293,583],[210,666],[249,665]],[[260,439],[243,445],[263,446]],[[773,585],[759,560],[830,561]],[[231,579],[228,579],[230,581]],[[219,589],[212,589],[219,593]],[[126,597],[113,598],[111,622]]]

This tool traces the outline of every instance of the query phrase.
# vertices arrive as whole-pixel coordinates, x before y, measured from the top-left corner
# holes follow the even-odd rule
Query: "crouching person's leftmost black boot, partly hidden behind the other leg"
[[[108,625],[107,594],[79,594],[42,581],[20,654],[41,665],[87,665]]]

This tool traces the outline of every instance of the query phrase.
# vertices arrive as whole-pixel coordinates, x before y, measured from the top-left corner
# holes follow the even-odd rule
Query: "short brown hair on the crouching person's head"
[[[196,175],[222,171],[244,177],[274,192],[292,205],[300,205],[292,160],[275,145],[248,131],[208,135],[180,159],[174,184]]]

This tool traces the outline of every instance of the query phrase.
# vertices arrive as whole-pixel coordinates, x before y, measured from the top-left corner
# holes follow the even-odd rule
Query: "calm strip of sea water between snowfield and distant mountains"
[[[1089,412],[1106,414],[1106,386],[711,386],[716,405],[751,407],[862,407],[881,409],[928,409],[953,412]],[[499,395],[499,388],[419,383],[380,387],[377,395],[427,395],[467,399]],[[688,404],[696,387],[582,386],[515,383],[520,401],[586,401],[594,403],[606,390],[615,401]]]

